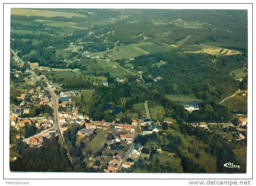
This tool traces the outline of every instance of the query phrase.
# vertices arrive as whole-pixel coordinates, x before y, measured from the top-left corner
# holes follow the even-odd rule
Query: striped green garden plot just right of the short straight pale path
[[[148,101],[148,109],[150,117],[153,121],[162,120],[165,116],[164,108],[162,105],[153,101]]]

